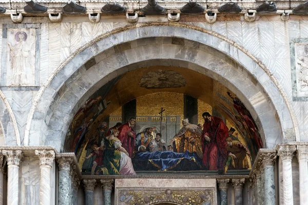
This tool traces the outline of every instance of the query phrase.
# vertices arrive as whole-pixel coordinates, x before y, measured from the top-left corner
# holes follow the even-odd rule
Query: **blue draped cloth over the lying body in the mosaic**
[[[183,159],[197,163],[197,165],[202,167],[202,160],[198,157],[196,152],[189,153],[185,151],[184,153],[176,153],[172,151],[165,152],[142,152],[135,156],[137,160],[148,160],[153,166],[159,168],[160,171],[167,171],[175,168]]]

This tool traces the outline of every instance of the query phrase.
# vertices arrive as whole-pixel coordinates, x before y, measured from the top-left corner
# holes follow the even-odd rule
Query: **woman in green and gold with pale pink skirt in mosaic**
[[[136,175],[128,156],[128,152],[122,147],[119,130],[113,129],[112,134],[102,141],[105,146],[104,167],[97,171],[101,175]]]

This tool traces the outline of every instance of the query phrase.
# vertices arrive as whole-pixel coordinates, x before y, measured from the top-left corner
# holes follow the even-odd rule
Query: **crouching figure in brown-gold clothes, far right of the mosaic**
[[[227,158],[224,163],[224,171],[226,174],[229,168],[234,170],[248,169],[247,155],[251,156],[249,150],[238,140],[233,140],[231,137],[225,139],[227,144]]]

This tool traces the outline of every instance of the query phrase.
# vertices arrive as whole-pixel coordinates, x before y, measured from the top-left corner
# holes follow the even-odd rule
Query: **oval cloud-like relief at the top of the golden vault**
[[[176,71],[157,70],[142,76],[142,88],[180,88],[186,85],[185,78]]]

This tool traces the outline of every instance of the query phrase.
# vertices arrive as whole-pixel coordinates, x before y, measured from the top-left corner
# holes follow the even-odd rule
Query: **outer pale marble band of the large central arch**
[[[290,123],[288,124],[285,123],[287,124],[288,127],[285,127],[283,125],[284,127],[282,129],[282,132],[291,135],[290,140],[294,140],[293,139],[294,130],[295,132],[297,132],[297,123],[296,120],[294,120],[293,111],[291,110],[291,107],[287,99],[285,98],[284,93],[280,85],[278,84],[278,81],[275,80],[275,78],[273,80],[273,75],[268,71],[268,69],[266,69],[266,67],[264,67],[264,65],[257,58],[251,58],[250,55],[247,55],[246,53],[243,52],[245,51],[245,49],[240,48],[236,43],[212,31],[207,31],[197,27],[187,28],[188,27],[187,25],[185,26],[177,25],[177,27],[176,26],[167,27],[168,24],[161,24],[161,23],[160,24],[153,23],[153,25],[156,26],[139,25],[145,27],[138,27],[138,28],[127,27],[124,29],[124,31],[122,29],[121,30],[122,32],[119,31],[119,33],[117,33],[116,31],[113,31],[114,34],[109,34],[109,36],[107,35],[101,36],[98,39],[93,40],[93,42],[90,42],[88,45],[85,45],[83,48],[79,49],[79,53],[76,52],[75,54],[70,56],[70,58],[67,59],[64,63],[62,63],[62,65],[53,73],[53,75],[51,75],[48,78],[48,81],[46,82],[46,84],[44,84],[43,88],[39,91],[35,99],[35,101],[37,101],[38,103],[37,106],[35,106],[35,103],[33,104],[32,108],[33,112],[30,113],[29,115],[27,131],[26,131],[26,139],[27,138],[29,139],[29,131],[31,129],[32,131],[34,131],[35,130],[34,128],[37,129],[38,127],[42,128],[40,129],[42,131],[40,131],[41,133],[38,134],[39,136],[37,136],[36,132],[36,136],[33,135],[33,137],[37,138],[46,135],[47,124],[49,123],[48,117],[50,116],[51,112],[50,110],[48,113],[48,111],[45,109],[46,107],[48,107],[46,105],[51,105],[51,109],[53,108],[54,104],[52,104],[52,101],[54,101],[54,98],[57,97],[56,91],[60,90],[60,88],[62,87],[62,82],[68,79],[69,76],[72,76],[72,74],[75,73],[79,68],[83,67],[83,65],[92,57],[97,56],[104,50],[112,48],[114,45],[121,45],[125,42],[129,42],[130,40],[136,40],[142,37],[178,36],[181,38],[194,40],[200,45],[207,45],[212,48],[216,48],[217,50],[220,50],[223,53],[227,53],[229,57],[235,59],[237,62],[239,62],[239,64],[242,64],[244,70],[246,70],[247,73],[252,73],[254,75],[256,84],[259,83],[263,87],[265,87],[265,90],[267,91],[267,93],[269,93],[269,97],[273,100],[273,104],[275,105],[275,107],[281,106],[280,108],[277,109],[278,111],[277,116],[279,116],[278,120],[292,121],[292,125]],[[142,55],[144,55],[144,53]],[[108,72],[108,70],[105,70],[105,72]],[[274,91],[278,91],[278,93],[272,92],[273,89]],[[84,92],[79,92],[78,95],[82,95],[83,93]],[[81,96],[76,96],[76,97],[80,98]],[[280,103],[275,103],[277,100],[280,101]],[[282,115],[282,113],[284,113],[284,115]],[[285,117],[282,119],[281,116]],[[43,121],[42,119],[44,119],[43,125],[42,125]],[[58,130],[53,134],[61,135],[61,131]],[[43,143],[42,137],[40,143],[41,144]],[[274,143],[276,142],[273,142],[273,144]],[[34,141],[31,142],[30,138],[29,145],[34,145],[34,144],[35,142]],[[56,147],[60,148],[61,142],[57,141],[56,145],[57,145]]]

